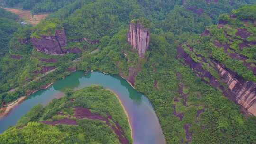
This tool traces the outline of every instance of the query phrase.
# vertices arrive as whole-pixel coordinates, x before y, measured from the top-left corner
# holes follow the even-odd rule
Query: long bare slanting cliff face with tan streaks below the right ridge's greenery
[[[220,80],[215,78],[202,68],[202,64],[195,62],[189,54],[183,50],[182,46],[177,48],[178,58],[184,60],[184,64],[187,64],[196,72],[197,76],[201,78],[208,78],[210,81],[205,81],[215,88],[222,90],[223,94],[232,101],[238,103],[250,114],[256,116],[256,83],[252,81],[246,81],[237,73],[230,71],[220,63],[211,60],[214,64],[213,68],[218,72]],[[227,87],[223,87],[220,83],[224,83]]]

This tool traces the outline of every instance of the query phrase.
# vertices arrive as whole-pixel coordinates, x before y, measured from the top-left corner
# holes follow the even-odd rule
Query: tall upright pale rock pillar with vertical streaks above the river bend
[[[137,49],[140,57],[144,57],[149,47],[149,31],[140,22],[131,22],[127,33],[127,41],[133,49]]]

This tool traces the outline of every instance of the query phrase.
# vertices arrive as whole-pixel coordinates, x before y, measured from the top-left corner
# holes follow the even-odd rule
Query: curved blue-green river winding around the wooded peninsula
[[[65,88],[81,89],[92,84],[108,88],[119,96],[129,115],[134,144],[165,144],[161,126],[149,100],[121,77],[104,75],[101,72],[92,72],[86,76],[83,72],[73,72],[66,78],[56,81],[48,89],[32,94],[6,117],[0,119],[0,133],[9,126],[14,126],[18,119],[35,105],[46,105],[52,99],[62,97]]]

